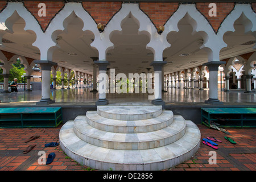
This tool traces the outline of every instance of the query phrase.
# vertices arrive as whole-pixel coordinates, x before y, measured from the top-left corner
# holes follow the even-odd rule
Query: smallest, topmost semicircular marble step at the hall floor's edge
[[[162,106],[97,106],[97,113],[104,118],[135,121],[158,117],[162,113]]]

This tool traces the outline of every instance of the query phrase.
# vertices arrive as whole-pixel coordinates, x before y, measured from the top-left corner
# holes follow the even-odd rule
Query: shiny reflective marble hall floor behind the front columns
[[[51,99],[55,100],[55,104],[69,105],[94,105],[98,100],[98,93],[90,92],[92,88],[77,88],[77,89],[57,89],[51,90]],[[167,92],[162,93],[162,98],[166,104],[204,104],[209,98],[209,90],[199,89],[177,89],[165,88]],[[109,104],[151,104],[148,100],[148,94],[142,93],[109,93],[106,94]],[[17,93],[0,93],[0,105],[4,104],[35,104],[40,101],[41,91]],[[243,91],[231,90],[230,92],[218,91],[218,99],[224,103],[230,104],[254,104],[256,103],[256,93],[244,93]]]

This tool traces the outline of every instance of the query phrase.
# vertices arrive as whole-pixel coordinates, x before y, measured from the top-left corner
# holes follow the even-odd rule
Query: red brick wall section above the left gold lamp
[[[122,7],[122,2],[82,2],[84,9],[96,23],[107,24]]]

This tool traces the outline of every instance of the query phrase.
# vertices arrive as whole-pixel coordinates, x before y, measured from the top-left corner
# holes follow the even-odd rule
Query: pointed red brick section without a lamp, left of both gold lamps
[[[24,1],[24,6],[35,16],[35,18],[40,23],[43,31],[46,30],[46,27],[49,24],[49,21],[56,15],[56,13],[64,6],[63,2],[54,2],[54,1],[46,1],[46,16],[39,17],[38,11],[40,8],[38,4],[40,1]]]

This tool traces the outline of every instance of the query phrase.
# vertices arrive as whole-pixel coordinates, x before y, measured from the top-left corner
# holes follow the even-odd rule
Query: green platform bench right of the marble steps
[[[255,127],[256,108],[201,108],[201,123],[210,127],[210,122],[218,127]]]

